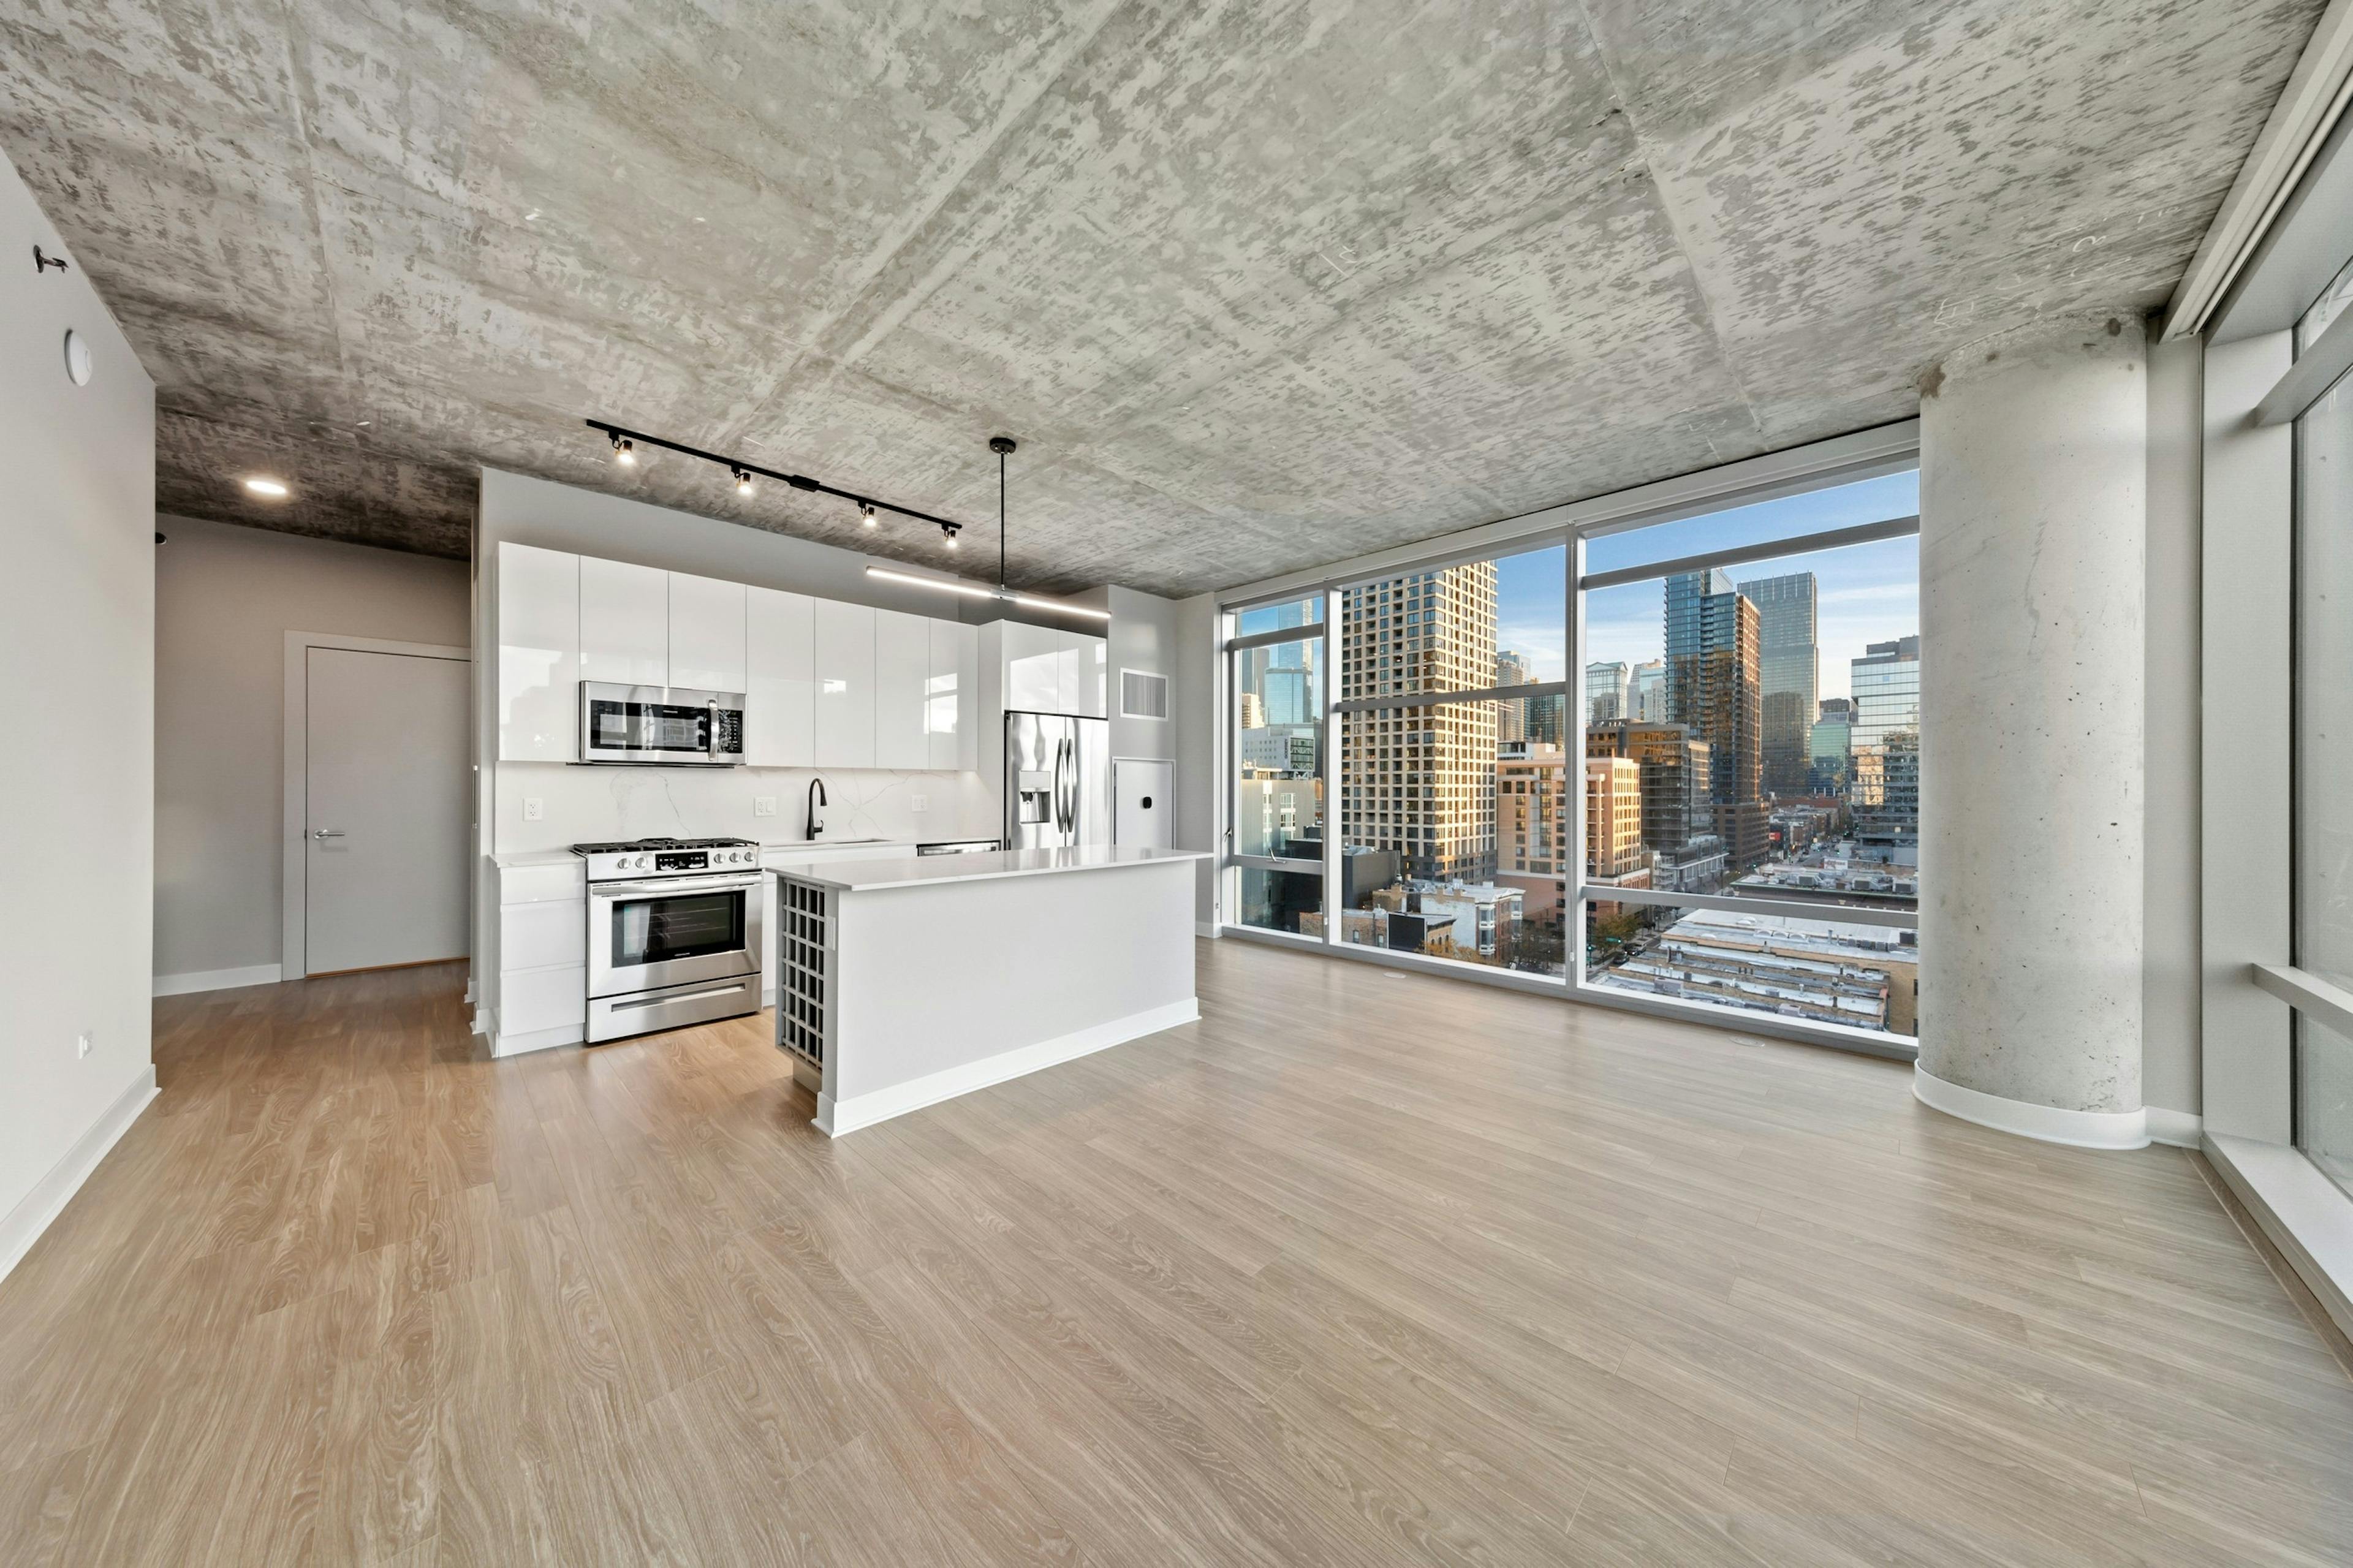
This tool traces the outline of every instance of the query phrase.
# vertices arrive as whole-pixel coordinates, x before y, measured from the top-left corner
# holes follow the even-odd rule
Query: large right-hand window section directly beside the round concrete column
[[[1584,979],[1913,1038],[1918,476],[1586,539]]]

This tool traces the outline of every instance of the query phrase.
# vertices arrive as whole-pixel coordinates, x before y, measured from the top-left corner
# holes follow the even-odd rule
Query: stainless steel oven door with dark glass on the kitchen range
[[[760,876],[588,885],[588,996],[760,972]]]

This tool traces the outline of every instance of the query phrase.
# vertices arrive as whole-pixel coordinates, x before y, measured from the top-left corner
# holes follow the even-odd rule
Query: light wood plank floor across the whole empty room
[[[2346,1563],[2353,1384],[2195,1156],[1202,944],[840,1144],[767,1019],[169,998],[0,1283],[16,1563]]]

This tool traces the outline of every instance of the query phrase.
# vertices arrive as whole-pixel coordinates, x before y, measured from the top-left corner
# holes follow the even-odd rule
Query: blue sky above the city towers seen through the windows
[[[1661,523],[1586,544],[1586,570],[1609,572],[1649,560],[1699,556],[1765,539],[1812,534],[1826,527],[1878,523],[1920,511],[1920,476],[1814,490],[1779,501]],[[1821,640],[1821,695],[1847,695],[1847,662],[1866,643],[1885,643],[1920,631],[1918,539],[1885,539],[1842,551],[1758,560],[1732,567],[1734,582],[1814,572]],[[1532,655],[1541,680],[1567,673],[1565,553],[1534,551],[1497,563],[1497,645]],[[1602,589],[1586,600],[1588,659],[1657,659],[1664,652],[1664,584],[1633,582]]]

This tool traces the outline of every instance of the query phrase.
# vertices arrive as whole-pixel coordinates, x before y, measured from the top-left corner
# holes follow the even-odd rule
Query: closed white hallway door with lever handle
[[[308,650],[306,972],[466,956],[468,669]]]

